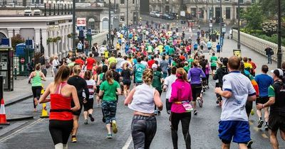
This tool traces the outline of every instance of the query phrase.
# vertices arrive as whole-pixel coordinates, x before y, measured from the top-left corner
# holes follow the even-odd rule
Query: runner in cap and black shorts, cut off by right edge
[[[271,70],[271,72],[273,73],[274,84],[271,84],[268,89],[269,101],[265,104],[257,104],[257,109],[261,110],[270,106],[270,142],[272,148],[279,149],[278,140],[276,138],[278,130],[280,130],[281,138],[285,140],[285,84],[282,81],[284,73],[280,69]]]

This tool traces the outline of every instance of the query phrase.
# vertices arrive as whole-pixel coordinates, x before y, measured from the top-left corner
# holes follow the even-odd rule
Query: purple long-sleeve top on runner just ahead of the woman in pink
[[[206,75],[204,75],[203,70],[198,67],[192,67],[188,71],[187,79],[191,79],[191,82],[190,82],[191,84],[201,84],[201,76],[206,77]]]

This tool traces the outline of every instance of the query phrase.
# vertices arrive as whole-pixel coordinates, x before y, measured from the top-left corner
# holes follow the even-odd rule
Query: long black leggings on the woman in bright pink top
[[[177,149],[177,141],[178,141],[178,124],[181,121],[182,124],[182,133],[184,136],[186,148],[190,149],[191,148],[191,136],[189,133],[189,126],[190,126],[190,121],[191,121],[191,112],[186,112],[182,114],[177,114],[177,113],[171,113],[171,136],[172,136],[172,144],[173,148]]]

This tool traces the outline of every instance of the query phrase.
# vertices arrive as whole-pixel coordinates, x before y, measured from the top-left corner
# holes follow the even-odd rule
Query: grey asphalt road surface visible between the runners
[[[189,36],[187,34],[187,36]],[[195,37],[193,37],[193,40]],[[233,40],[226,40],[227,45],[224,46],[223,56],[229,56],[232,53],[235,42]],[[207,51],[204,51],[206,53]],[[257,60],[260,55],[252,55],[251,52],[244,50],[243,55],[249,53],[254,56],[253,60]],[[209,57],[209,55],[206,55]],[[258,60],[258,63],[262,63]],[[263,62],[264,63],[264,62]],[[260,65],[259,65],[260,67]],[[272,67],[272,66],[271,66]],[[210,79],[210,89],[204,94],[204,105],[198,108],[198,115],[192,115],[190,123],[190,135],[192,140],[192,148],[194,149],[217,149],[220,148],[221,141],[218,138],[218,122],[221,113],[221,108],[216,104],[216,96],[214,94],[214,80]],[[162,102],[165,103],[165,93],[161,96]],[[105,136],[105,123],[102,122],[102,113],[100,108],[94,106],[95,116],[94,122],[89,122],[88,125],[83,124],[83,116],[80,117],[80,126],[78,131],[78,143],[68,143],[68,147],[73,148],[86,148],[86,149],[127,149],[133,148],[133,142],[130,136],[130,124],[133,117],[133,111],[123,106],[124,98],[120,96],[118,101],[117,123],[118,133],[113,135],[113,139],[107,139]],[[49,109],[49,104],[48,104]],[[254,109],[255,106],[254,106]],[[32,99],[21,101],[17,104],[6,106],[7,114],[32,114],[34,119],[24,121],[11,122],[10,126],[4,126],[0,129],[0,148],[53,148],[53,141],[48,131],[48,119],[41,119],[41,111],[33,112]],[[160,116],[157,118],[157,133],[152,141],[150,148],[153,149],[170,149],[172,148],[171,130],[169,115],[166,113],[165,108]],[[263,128],[257,128],[257,115],[250,116],[250,131],[254,144],[252,148],[271,148],[269,142],[269,132],[264,131]],[[6,133],[5,133],[6,132]],[[178,131],[179,135],[179,148],[185,148],[185,143],[182,136],[181,126]],[[279,135],[279,134],[278,134]],[[279,139],[279,148],[285,148],[284,141]],[[232,143],[232,148],[238,148],[237,144]]]

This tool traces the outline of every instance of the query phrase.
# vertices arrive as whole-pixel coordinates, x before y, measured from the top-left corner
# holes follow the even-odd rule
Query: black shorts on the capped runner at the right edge
[[[278,131],[278,129],[280,129],[280,131],[285,132],[285,114],[283,114],[283,116],[279,115],[279,114],[274,114],[274,113],[270,113],[269,115],[269,129],[271,129],[271,131]]]

